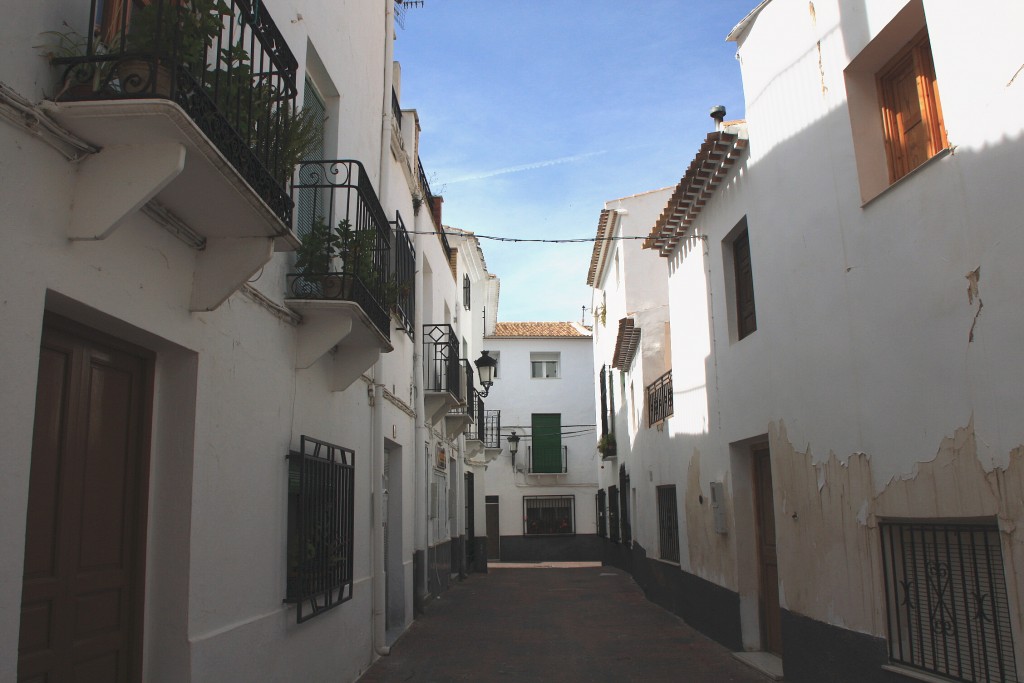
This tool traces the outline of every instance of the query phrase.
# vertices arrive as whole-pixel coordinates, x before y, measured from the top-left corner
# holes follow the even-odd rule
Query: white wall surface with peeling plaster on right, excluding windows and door
[[[681,568],[739,593],[754,648],[749,470],[762,439],[783,608],[885,638],[879,520],[994,517],[1024,636],[1024,57],[986,24],[1019,24],[1022,9],[923,2],[955,148],[863,204],[843,71],[906,4],[763,9],[738,45],[749,157],[695,222],[702,244],[669,261],[676,415],[666,442],[634,457],[651,486],[685,486]],[[744,216],[758,329],[736,341],[727,252]],[[725,482],[725,535],[712,481]],[[656,514],[652,488],[639,502]],[[656,520],[641,533],[656,548]]]

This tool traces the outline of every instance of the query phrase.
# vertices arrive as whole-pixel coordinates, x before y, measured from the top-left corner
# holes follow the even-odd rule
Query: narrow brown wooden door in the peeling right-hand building
[[[768,446],[754,449],[755,505],[758,515],[761,647],[782,653],[782,620],[778,604],[778,556],[775,552],[775,504]]]

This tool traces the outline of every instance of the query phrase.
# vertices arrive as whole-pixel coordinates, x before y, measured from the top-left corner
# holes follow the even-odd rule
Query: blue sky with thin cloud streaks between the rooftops
[[[426,0],[398,30],[401,105],[445,224],[593,237],[604,202],[673,185],[742,118],[725,35],[757,0]],[[501,321],[580,321],[593,246],[482,240]],[[589,313],[587,324],[590,324]]]

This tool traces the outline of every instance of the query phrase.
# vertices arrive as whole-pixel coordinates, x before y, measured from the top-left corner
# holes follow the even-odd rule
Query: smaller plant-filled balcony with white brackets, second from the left
[[[286,294],[302,315],[296,366],[337,346],[332,388],[341,391],[393,348],[391,309],[412,273],[394,274],[390,223],[359,162],[301,163],[292,198],[302,240]]]

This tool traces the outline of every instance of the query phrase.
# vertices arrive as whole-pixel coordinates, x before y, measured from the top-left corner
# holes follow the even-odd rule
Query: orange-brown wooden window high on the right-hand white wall
[[[895,182],[947,146],[927,30],[879,72],[878,84],[889,182]]]

